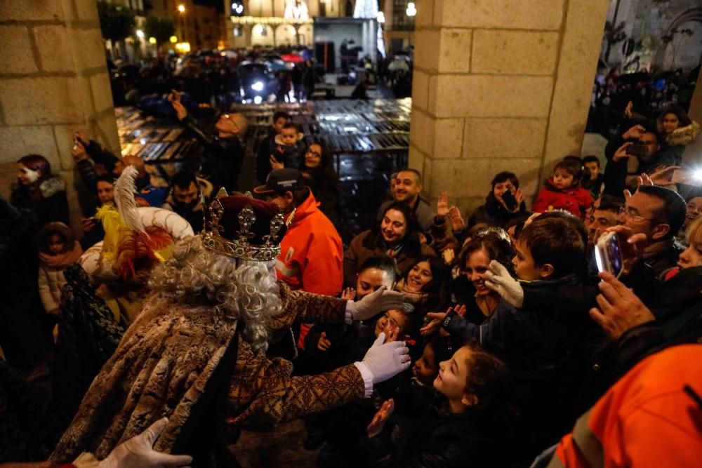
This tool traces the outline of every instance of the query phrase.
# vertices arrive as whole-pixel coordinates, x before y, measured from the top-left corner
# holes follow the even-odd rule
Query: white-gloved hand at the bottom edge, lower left
[[[148,429],[120,443],[98,464],[98,468],[169,468],[186,467],[192,463],[190,455],[168,455],[154,451],[154,442],[168,424],[163,417]]]

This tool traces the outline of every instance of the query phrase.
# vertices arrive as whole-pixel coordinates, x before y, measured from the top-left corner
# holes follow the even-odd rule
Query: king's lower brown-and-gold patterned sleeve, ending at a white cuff
[[[356,366],[330,373],[292,377],[284,359],[268,359],[239,341],[237,368],[230,380],[227,425],[270,429],[285,422],[364,397],[364,380]]]

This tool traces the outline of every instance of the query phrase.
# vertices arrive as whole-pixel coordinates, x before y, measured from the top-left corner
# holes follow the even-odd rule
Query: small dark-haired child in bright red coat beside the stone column
[[[583,170],[571,160],[560,161],[553,168],[541,192],[538,192],[531,210],[544,213],[552,210],[566,210],[578,218],[584,218],[592,205],[588,190],[580,187]]]

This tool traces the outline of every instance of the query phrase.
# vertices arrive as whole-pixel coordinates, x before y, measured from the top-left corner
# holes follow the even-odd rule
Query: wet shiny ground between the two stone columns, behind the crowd
[[[289,112],[305,138],[314,135],[333,153],[343,192],[337,229],[348,243],[371,227],[387,196],[390,174],[407,164],[411,99],[232,105],[228,112],[241,112],[249,121],[239,177],[242,190],[260,184],[255,175],[255,150],[276,110]],[[176,171],[192,167],[202,154],[201,146],[173,119],[145,116],[135,107],[119,107],[116,114],[122,156],[140,156],[164,185]],[[206,109],[202,122],[212,125],[215,119],[216,112]]]

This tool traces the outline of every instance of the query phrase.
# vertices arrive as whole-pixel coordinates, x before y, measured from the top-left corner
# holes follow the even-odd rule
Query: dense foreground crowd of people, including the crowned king
[[[702,181],[681,167],[699,133],[682,109],[621,128],[604,168],[564,156],[531,206],[513,168],[472,213],[401,168],[345,246],[322,143],[277,112],[241,194],[246,119],[210,134],[180,100],[205,151],[170,187],[75,134],[82,232],[47,159],[18,161],[0,199],[0,461],[155,466],[131,444],[159,466],[234,466],[239,430],[303,417],[320,467],[696,462]]]

